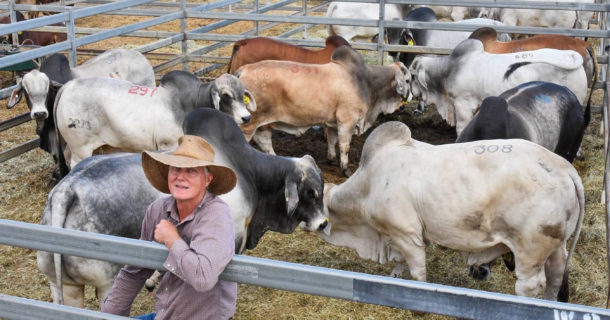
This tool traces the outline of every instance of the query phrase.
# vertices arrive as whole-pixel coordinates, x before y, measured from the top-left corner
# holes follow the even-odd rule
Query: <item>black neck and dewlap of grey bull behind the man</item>
[[[251,168],[243,171],[250,172],[251,177],[247,177],[245,180],[255,183],[253,189],[257,192],[257,204],[248,225],[246,249],[254,249],[267,231],[292,233],[302,219],[298,216],[298,212],[295,212],[288,221],[286,212],[285,179],[295,172],[301,172],[301,169],[297,168],[296,159],[251,151],[257,152],[259,155],[249,158],[260,160],[257,160],[259,165],[248,164]]]

